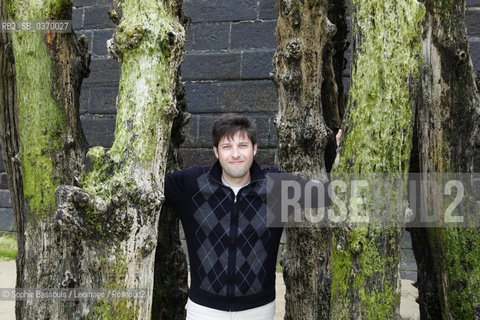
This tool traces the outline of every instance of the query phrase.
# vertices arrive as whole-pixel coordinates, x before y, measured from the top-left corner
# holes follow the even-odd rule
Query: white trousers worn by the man
[[[273,320],[275,301],[242,311],[223,311],[199,305],[188,299],[186,320]]]

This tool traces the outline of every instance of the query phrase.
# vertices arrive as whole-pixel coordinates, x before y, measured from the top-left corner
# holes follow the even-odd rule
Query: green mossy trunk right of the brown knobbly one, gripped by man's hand
[[[408,172],[413,131],[409,83],[419,65],[424,10],[416,1],[353,1],[352,6],[349,115],[335,174],[366,174],[364,213],[369,220],[354,224],[354,204],[345,201],[349,220],[335,230],[332,241],[330,316],[397,319],[402,228],[397,219],[382,222],[374,215],[372,195],[379,185],[374,173],[387,173],[380,181],[396,183],[396,174]],[[406,190],[399,192],[404,197]],[[397,205],[392,202],[391,209],[384,209],[392,211],[385,213],[404,212]]]

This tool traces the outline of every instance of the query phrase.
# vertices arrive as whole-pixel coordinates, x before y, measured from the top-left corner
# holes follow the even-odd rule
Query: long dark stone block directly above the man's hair
[[[275,112],[277,89],[270,80],[187,82],[188,111],[205,112]]]

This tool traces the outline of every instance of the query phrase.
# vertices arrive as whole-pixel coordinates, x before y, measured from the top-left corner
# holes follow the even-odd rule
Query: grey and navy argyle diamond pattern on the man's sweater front
[[[195,238],[199,243],[197,257],[200,265],[196,272],[202,282],[200,288],[220,295],[227,294],[227,247],[231,243],[231,192],[211,183],[205,175],[197,180],[199,192],[192,198],[197,209],[194,218],[198,223]],[[256,190],[244,189],[239,194],[238,232],[236,239],[235,296],[260,292],[266,280],[265,247],[271,239],[267,226],[265,183]],[[193,270],[192,270],[193,271]]]

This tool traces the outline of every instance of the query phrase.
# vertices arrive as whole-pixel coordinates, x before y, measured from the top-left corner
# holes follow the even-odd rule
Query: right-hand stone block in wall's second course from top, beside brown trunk
[[[275,20],[232,23],[230,38],[231,49],[273,48],[275,39]]]

